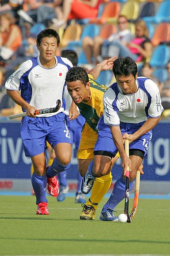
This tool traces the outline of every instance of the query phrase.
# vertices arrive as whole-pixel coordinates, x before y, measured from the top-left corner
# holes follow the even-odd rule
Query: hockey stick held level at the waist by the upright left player
[[[55,107],[37,109],[37,110],[35,110],[34,114],[35,115],[42,115],[42,114],[48,114],[48,113],[55,113],[60,109],[60,107],[61,107],[61,100],[57,99]],[[9,119],[14,119],[14,118],[25,117],[25,116],[26,116],[26,112],[8,116],[8,118]]]

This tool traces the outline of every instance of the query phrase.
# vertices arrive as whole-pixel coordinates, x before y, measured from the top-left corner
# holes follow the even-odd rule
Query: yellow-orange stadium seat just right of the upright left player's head
[[[63,34],[62,41],[60,42],[60,47],[66,47],[70,41],[78,41],[80,39],[81,32],[82,28],[80,24],[70,24]]]

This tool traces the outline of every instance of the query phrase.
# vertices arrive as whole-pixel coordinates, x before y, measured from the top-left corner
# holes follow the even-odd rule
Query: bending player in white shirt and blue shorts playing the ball
[[[136,63],[130,58],[118,58],[113,65],[116,83],[103,96],[104,112],[98,122],[98,139],[94,150],[94,162],[83,178],[81,191],[88,193],[95,177],[108,173],[112,157],[119,151],[122,176],[115,183],[113,192],[103,206],[101,221],[117,221],[115,207],[125,197],[125,172],[130,169],[130,189],[152,138],[152,128],[163,109],[157,85],[147,77],[138,77]],[[123,140],[129,140],[129,158]],[[142,172],[143,173],[143,172]]]

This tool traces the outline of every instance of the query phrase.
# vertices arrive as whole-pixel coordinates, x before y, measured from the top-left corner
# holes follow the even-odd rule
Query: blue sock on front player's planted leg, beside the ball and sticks
[[[129,190],[131,191],[132,188],[133,181],[129,182]],[[102,210],[106,210],[108,208],[114,210],[123,198],[125,198],[125,180],[121,177],[115,183],[112,194],[107,203],[103,206]]]

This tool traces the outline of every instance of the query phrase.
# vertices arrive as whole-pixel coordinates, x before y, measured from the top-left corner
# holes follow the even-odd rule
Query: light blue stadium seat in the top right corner
[[[144,17],[143,20],[147,23],[162,23],[170,22],[170,0],[164,0],[160,3],[157,12],[152,17]]]

